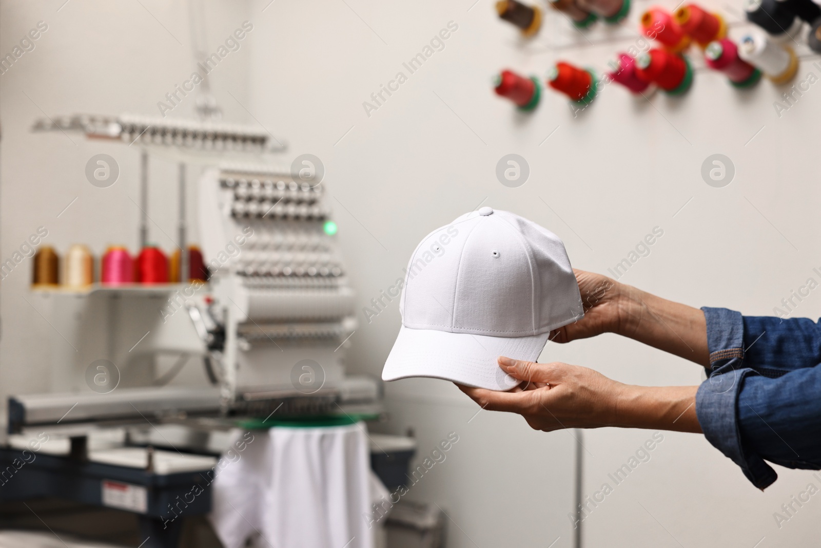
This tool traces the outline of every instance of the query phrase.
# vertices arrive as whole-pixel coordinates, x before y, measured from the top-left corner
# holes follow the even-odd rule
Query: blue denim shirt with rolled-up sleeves
[[[708,379],[695,395],[704,437],[764,490],[773,467],[821,469],[821,320],[704,307]]]

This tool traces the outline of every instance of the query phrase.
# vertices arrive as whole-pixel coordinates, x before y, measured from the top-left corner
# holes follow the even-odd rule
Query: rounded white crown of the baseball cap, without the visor
[[[492,337],[542,334],[584,315],[562,240],[490,208],[422,240],[410,257],[400,311],[411,329]]]

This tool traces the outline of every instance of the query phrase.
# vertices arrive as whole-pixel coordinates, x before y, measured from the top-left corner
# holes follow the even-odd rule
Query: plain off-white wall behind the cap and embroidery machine
[[[32,135],[28,128],[42,116],[40,108],[156,115],[156,102],[193,65],[186,2],[61,3],[0,6],[0,53],[37,21],[49,25],[34,52],[0,76],[3,260],[40,225],[61,250],[71,242],[88,242],[94,251],[108,242],[135,246],[138,210],[129,196],[136,200],[138,154],[78,136],[71,136],[73,145],[60,133]],[[727,16],[737,38],[740,2],[707,5]],[[359,308],[401,276],[426,233],[490,205],[543,224],[562,237],[573,265],[599,272],[658,226],[663,237],[623,282],[693,306],[771,315],[821,266],[815,154],[821,85],[811,85],[781,117],[773,101],[784,89],[764,81],[739,92],[701,68],[681,99],[636,99],[613,84],[578,117],[552,90],[534,113],[522,115],[490,89],[502,67],[544,76],[562,58],[603,70],[614,53],[636,44],[635,21],[648,6],[635,2],[626,25],[599,25],[586,38],[548,12],[539,36],[525,43],[497,20],[489,0],[206,2],[209,51],[241,21],[255,25],[242,49],[213,72],[213,93],[228,121],[261,124],[286,137],[291,148],[284,160],[303,153],[323,160]],[[446,47],[409,75],[402,62],[448,21],[458,30]],[[813,60],[818,57],[804,56],[796,82],[810,72],[821,75]],[[368,116],[362,103],[397,71],[408,81]],[[172,115],[190,116],[192,105]],[[103,191],[83,174],[98,152],[112,154],[122,168],[121,180]],[[522,187],[503,187],[495,177],[498,159],[509,153],[530,164]],[[715,153],[736,167],[724,188],[709,187],[700,176],[702,162]],[[152,219],[172,233],[174,165],[153,160],[151,173]],[[170,246],[157,225],[152,237]],[[30,265],[21,265],[0,286],[2,394],[48,386],[48,345],[57,334],[23,300],[29,275]],[[818,317],[816,293],[796,315]],[[370,322],[361,311],[358,317],[349,369],[378,375],[400,324],[397,302]],[[552,360],[637,384],[701,380],[698,366],[614,335],[548,344],[540,361]],[[476,415],[472,402],[441,381],[404,380],[386,389],[391,420],[378,430],[413,428],[420,454],[450,431],[460,436],[447,460],[407,495],[448,511],[449,546],[554,540],[553,546],[571,546],[569,432],[544,434],[520,417]],[[608,472],[652,434],[585,431],[583,493],[610,482]],[[651,460],[585,520],[585,546],[814,546],[817,496],[780,529],[773,513],[810,481],[821,482],[809,472],[777,472],[777,483],[762,493],[703,436],[665,433]]]

